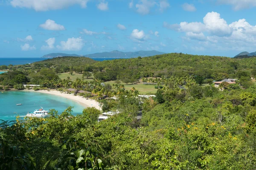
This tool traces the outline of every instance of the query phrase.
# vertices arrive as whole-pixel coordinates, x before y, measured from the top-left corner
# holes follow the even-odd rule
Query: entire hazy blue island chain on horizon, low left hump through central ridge
[[[64,53],[51,53],[44,55],[42,58],[55,58],[55,57],[64,57],[64,56],[72,56],[72,57],[89,57],[89,58],[135,58],[135,57],[149,57],[154,55],[166,54],[160,51],[135,51],[135,52],[122,52],[122,51],[111,51],[111,52],[102,52],[95,54],[86,54],[86,55],[78,55],[78,54],[64,54]]]

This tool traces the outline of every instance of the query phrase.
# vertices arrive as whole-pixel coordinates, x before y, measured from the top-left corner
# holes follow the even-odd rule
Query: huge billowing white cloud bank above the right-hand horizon
[[[203,23],[163,23],[163,26],[186,33],[182,38],[185,43],[193,44],[191,49],[194,51],[204,51],[207,48],[218,51],[253,51],[256,46],[256,26],[250,25],[245,19],[228,25],[216,12],[207,13]]]

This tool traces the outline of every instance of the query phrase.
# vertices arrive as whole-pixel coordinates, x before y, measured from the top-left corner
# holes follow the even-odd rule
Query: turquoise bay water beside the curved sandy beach
[[[16,104],[22,105],[17,106]],[[4,91],[0,92],[0,119],[15,120],[16,116],[26,116],[27,112],[40,109],[56,109],[62,113],[67,107],[73,106],[73,115],[81,114],[84,106],[78,102],[64,97],[26,91]]]

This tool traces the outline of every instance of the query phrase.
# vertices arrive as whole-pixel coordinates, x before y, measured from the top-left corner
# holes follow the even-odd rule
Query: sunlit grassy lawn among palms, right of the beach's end
[[[115,81],[105,82],[111,85],[115,84]],[[126,90],[131,90],[131,88],[135,88],[136,90],[140,91],[140,94],[147,94],[147,93],[156,93],[157,89],[154,88],[154,85],[143,85],[143,82],[139,82],[137,84],[128,84],[121,82],[119,85],[125,85]]]

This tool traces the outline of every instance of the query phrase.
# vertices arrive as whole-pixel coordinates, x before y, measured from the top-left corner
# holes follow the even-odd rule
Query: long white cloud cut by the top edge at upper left
[[[89,0],[11,0],[13,7],[32,8],[35,11],[49,11],[80,5],[86,8]]]

